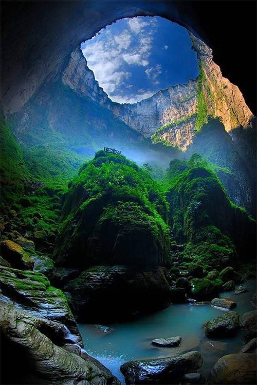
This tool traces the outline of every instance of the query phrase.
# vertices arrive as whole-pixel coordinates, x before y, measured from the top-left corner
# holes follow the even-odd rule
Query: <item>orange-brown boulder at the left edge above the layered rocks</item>
[[[23,250],[20,244],[11,240],[4,240],[1,242],[1,255],[13,268],[32,270],[34,267],[34,261],[26,251]]]

